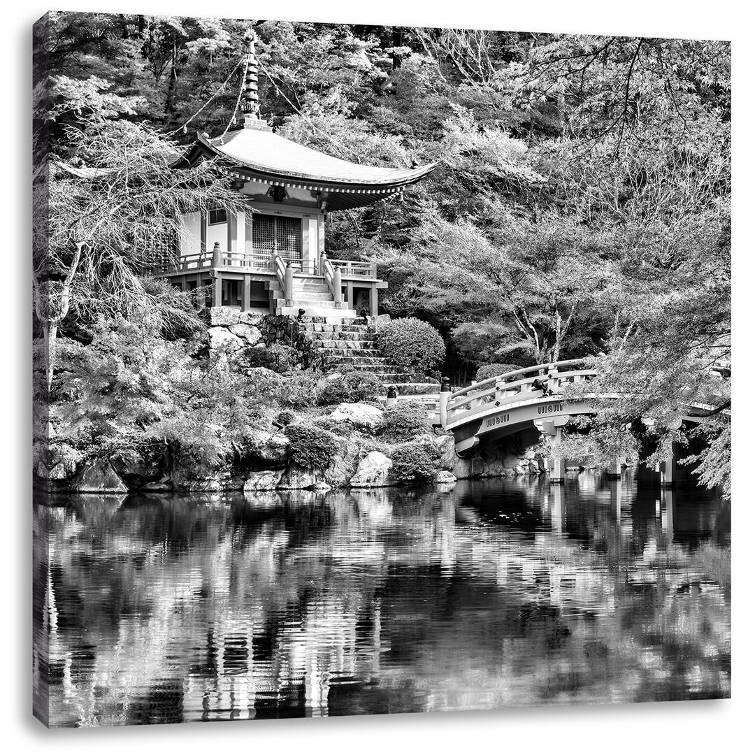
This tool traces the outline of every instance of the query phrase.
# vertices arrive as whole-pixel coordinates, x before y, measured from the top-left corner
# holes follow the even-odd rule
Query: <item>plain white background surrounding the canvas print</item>
[[[741,7],[738,7],[740,6]],[[48,732],[31,716],[31,284],[30,126],[31,27],[45,6],[10,0],[2,12],[2,218],[10,233],[0,242],[0,516],[3,541],[0,631],[0,743],[7,752],[193,753],[270,748],[273,752],[334,753],[729,753],[752,752],[753,695],[752,493],[755,476],[753,373],[753,46],[747,2],[382,2],[285,4],[218,0],[66,2],[65,10],[340,21],[417,26],[467,26],[621,35],[730,39],[734,50],[735,262],[735,488],[734,640],[731,701],[501,710],[490,713],[364,716],[334,720],[279,720],[144,726]],[[54,9],[54,8],[53,8]],[[748,353],[749,352],[749,353]],[[748,403],[750,405],[748,405]],[[741,535],[738,536],[738,533]],[[748,552],[749,546],[749,552]]]

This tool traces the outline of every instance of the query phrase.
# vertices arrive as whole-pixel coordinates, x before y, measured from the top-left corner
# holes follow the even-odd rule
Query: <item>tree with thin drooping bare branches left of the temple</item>
[[[49,183],[41,175],[35,186],[34,306],[48,384],[66,318],[85,325],[120,313],[168,332],[195,325],[190,300],[149,273],[175,254],[181,214],[243,203],[211,162],[172,168],[176,151],[145,125],[91,121],[68,133],[79,164],[52,162]]]

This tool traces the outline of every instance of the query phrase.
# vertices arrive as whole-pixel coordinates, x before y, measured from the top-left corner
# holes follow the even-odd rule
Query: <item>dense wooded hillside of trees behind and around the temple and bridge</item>
[[[49,148],[53,166],[125,176],[136,160],[141,171],[124,180],[122,213],[112,174],[35,162],[38,211],[51,199],[60,208],[35,236],[38,249],[47,233],[60,248],[60,270],[39,276],[41,319],[57,307],[48,328],[142,311],[192,319],[142,276],[159,251],[145,240],[168,228],[146,220],[177,208],[170,182],[150,203],[134,180],[159,186],[168,154],[196,130],[233,128],[249,25],[55,12],[35,29],[38,158]],[[728,43],[251,25],[262,115],[279,133],[354,162],[438,164],[405,202],[333,214],[327,243],[339,257],[377,254],[390,284],[382,309],[439,328],[455,383],[491,362],[595,356],[606,385],[643,391],[600,414],[594,443],[606,453],[617,427],[643,417],[655,419],[659,452],[677,440],[682,391],[722,414],[728,384],[710,367],[731,357]],[[224,191],[194,178],[195,205],[208,186]],[[117,244],[101,243],[88,206]],[[696,463],[706,482],[728,485],[721,427]]]

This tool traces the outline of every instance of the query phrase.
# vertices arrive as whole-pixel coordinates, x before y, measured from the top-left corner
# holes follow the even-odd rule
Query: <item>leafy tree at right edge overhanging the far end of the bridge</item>
[[[648,242],[648,239],[644,239]],[[593,445],[624,455],[626,437],[650,440],[655,464],[688,455],[707,485],[731,485],[731,246],[728,211],[700,217],[662,241],[650,239],[627,254],[622,295],[608,353],[595,361],[597,381],[581,390],[614,396],[600,402]],[[654,253],[653,253],[654,252]],[[704,407],[698,427],[681,423],[689,405]],[[707,448],[685,451],[695,436]],[[599,439],[596,439],[599,438]]]

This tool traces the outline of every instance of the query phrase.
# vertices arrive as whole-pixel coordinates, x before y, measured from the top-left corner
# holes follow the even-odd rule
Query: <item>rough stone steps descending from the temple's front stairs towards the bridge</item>
[[[306,309],[306,307],[304,307]],[[326,371],[337,369],[364,370],[376,374],[385,392],[396,386],[399,399],[421,401],[430,418],[435,418],[440,386],[433,382],[420,382],[416,377],[381,356],[375,344],[374,320],[347,315],[348,310],[336,310],[328,316],[307,315],[299,321],[299,331],[313,341],[320,365]],[[385,396],[377,396],[380,401]]]

